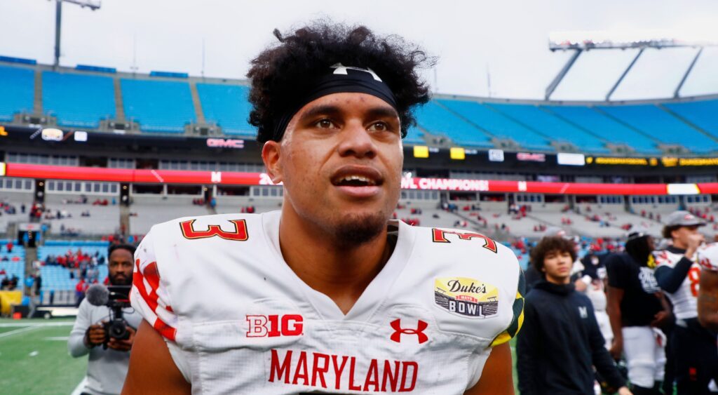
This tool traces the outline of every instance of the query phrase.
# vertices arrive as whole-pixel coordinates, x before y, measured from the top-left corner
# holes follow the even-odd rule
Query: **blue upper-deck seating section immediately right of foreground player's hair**
[[[429,101],[424,106],[417,108],[415,114],[419,126],[431,134],[447,136],[456,144],[464,146],[494,147],[488,134],[434,101]]]

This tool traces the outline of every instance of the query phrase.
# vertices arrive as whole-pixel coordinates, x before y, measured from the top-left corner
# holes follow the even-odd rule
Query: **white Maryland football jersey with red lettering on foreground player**
[[[390,223],[393,254],[344,315],[287,266],[280,216],[171,220],[137,248],[132,305],[192,394],[462,394],[521,327],[523,273],[490,238]]]

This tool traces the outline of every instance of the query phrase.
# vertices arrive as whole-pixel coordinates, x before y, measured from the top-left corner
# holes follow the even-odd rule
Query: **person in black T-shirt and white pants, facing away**
[[[634,228],[626,254],[609,256],[608,315],[613,330],[611,355],[624,354],[636,395],[660,395],[666,364],[666,336],[659,327],[671,320],[670,307],[653,276],[653,238]]]

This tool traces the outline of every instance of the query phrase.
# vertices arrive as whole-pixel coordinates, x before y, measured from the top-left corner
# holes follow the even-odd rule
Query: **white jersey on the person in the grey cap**
[[[653,258],[656,260],[656,270],[661,266],[668,266],[671,269],[676,266],[678,261],[683,258],[683,254],[675,254],[668,250],[653,252]],[[688,259],[694,257],[687,256]],[[701,276],[701,266],[694,261],[691,269],[686,275],[686,279],[681,283],[681,287],[676,292],[666,292],[668,298],[673,304],[673,314],[676,318],[686,320],[688,318],[698,317],[698,283]]]

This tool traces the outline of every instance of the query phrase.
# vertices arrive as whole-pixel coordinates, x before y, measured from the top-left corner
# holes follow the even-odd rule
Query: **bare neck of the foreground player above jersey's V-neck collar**
[[[391,255],[386,228],[360,246],[342,246],[334,235],[282,210],[279,246],[284,261],[309,287],[347,314]]]

